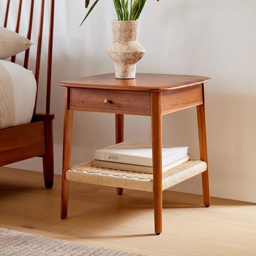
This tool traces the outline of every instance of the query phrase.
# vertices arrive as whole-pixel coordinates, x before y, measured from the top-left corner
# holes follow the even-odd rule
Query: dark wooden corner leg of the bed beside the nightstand
[[[44,185],[47,189],[53,186],[53,128],[52,120],[45,121],[46,154],[43,155]]]

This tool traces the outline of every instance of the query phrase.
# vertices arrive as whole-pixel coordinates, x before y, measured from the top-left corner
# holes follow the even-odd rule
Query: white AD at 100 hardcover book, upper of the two
[[[162,165],[169,164],[186,156],[187,149],[188,147],[162,146]],[[152,167],[152,145],[124,141],[113,146],[105,147],[104,149],[96,150],[94,159]]]

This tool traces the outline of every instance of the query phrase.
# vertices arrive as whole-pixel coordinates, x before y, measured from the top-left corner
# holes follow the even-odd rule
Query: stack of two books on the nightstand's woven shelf
[[[188,147],[162,147],[162,172],[190,160]],[[152,145],[124,141],[96,150],[92,166],[122,171],[153,173]]]

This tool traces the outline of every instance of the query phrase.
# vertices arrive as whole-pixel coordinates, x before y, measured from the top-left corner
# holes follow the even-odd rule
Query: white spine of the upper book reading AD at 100
[[[144,158],[140,156],[131,156],[131,155],[119,155],[113,153],[106,153],[101,151],[95,151],[94,159],[101,161],[109,161],[115,163],[124,163],[124,164],[135,164],[152,167],[152,158]]]

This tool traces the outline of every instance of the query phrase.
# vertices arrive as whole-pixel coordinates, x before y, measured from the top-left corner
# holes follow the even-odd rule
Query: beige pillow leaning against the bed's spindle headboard
[[[5,27],[0,27],[0,59],[7,59],[30,48],[33,43]]]

